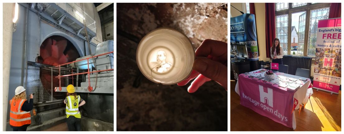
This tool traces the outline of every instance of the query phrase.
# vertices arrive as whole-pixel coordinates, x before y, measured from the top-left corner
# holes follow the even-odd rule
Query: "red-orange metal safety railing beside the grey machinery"
[[[56,68],[57,68],[57,67],[59,68],[59,75],[56,76],[56,78],[58,78],[59,81],[60,81],[60,85],[59,85],[58,89],[59,89],[60,91],[62,90],[62,87],[61,87],[61,77],[68,77],[68,76],[79,75],[79,74],[88,74],[88,87],[87,87],[87,89],[88,89],[89,92],[92,92],[93,87],[91,87],[91,84],[90,84],[90,81],[89,81],[89,75],[90,75],[90,73],[97,73],[97,72],[104,72],[104,71],[112,71],[112,70],[114,70],[114,69],[106,69],[106,70],[98,70],[98,71],[92,71],[92,72],[90,72],[90,71],[89,71],[89,59],[92,59],[92,58],[98,57],[98,56],[103,56],[103,55],[106,55],[106,54],[109,54],[109,53],[114,53],[114,51],[106,52],[106,53],[102,53],[102,54],[98,54],[98,55],[96,55],[96,56],[87,57],[87,58],[85,58],[85,59],[80,59],[80,60],[76,60],[76,61],[73,61],[73,62],[68,62],[68,63],[65,63],[65,64],[61,64],[61,65],[55,66]],[[61,70],[60,70],[60,69],[61,69],[61,66],[67,65],[67,64],[71,64],[71,63],[75,63],[75,62],[79,62],[79,61],[83,61],[83,60],[87,60],[87,72],[83,72],[83,73],[77,72],[77,73],[74,73],[74,74],[72,73],[72,74],[67,74],[67,75],[62,75],[62,76],[61,76]],[[96,64],[96,63],[94,63],[94,64]]]

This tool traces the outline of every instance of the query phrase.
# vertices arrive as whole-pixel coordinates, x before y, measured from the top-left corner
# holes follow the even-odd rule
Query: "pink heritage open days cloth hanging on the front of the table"
[[[239,75],[240,104],[292,128],[294,92]],[[308,86],[308,85],[307,85]]]

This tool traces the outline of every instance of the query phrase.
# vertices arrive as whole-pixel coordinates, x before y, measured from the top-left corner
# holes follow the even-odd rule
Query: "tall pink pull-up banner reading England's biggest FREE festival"
[[[319,20],[314,58],[314,87],[335,93],[342,75],[341,26],[341,18]]]

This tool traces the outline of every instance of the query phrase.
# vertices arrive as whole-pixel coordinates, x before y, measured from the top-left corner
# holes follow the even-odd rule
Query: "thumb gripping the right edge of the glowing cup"
[[[199,58],[194,61],[193,69],[227,90],[227,66],[211,59]]]

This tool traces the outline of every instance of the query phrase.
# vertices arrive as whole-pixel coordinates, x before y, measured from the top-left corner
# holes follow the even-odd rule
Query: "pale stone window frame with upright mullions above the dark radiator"
[[[292,3],[288,3],[288,9],[276,11],[275,7],[275,20],[276,16],[288,14],[288,54],[291,54],[291,14],[298,12],[306,12],[306,24],[305,24],[305,35],[304,35],[304,46],[303,46],[303,56],[308,56],[308,39],[309,39],[309,25],[310,25],[310,13],[311,10],[330,8],[331,3],[307,3],[299,7],[292,7]],[[276,6],[276,3],[275,3]],[[275,25],[277,23],[275,22]],[[276,30],[276,29],[275,29]],[[277,30],[276,30],[277,33]],[[277,36],[277,35],[276,35]]]

